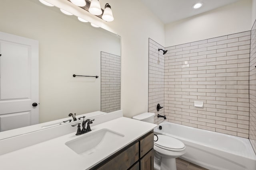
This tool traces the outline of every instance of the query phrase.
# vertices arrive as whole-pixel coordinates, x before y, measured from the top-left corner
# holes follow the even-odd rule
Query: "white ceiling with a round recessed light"
[[[142,0],[165,24],[195,16],[236,1],[238,0]],[[203,2],[204,6],[193,9],[192,6],[197,2]]]

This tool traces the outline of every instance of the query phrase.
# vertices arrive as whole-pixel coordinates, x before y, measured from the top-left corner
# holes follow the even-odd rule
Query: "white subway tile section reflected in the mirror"
[[[101,52],[101,111],[120,110],[121,57]]]

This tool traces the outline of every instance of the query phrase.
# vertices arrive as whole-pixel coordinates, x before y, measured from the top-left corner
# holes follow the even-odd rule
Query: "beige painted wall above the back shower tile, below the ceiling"
[[[254,0],[255,1],[255,0]],[[165,26],[165,47],[249,31],[252,0],[240,0],[216,10]]]

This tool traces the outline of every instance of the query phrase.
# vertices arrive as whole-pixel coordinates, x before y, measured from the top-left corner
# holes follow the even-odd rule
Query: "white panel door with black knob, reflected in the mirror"
[[[38,41],[0,32],[0,55],[0,131],[37,124]]]

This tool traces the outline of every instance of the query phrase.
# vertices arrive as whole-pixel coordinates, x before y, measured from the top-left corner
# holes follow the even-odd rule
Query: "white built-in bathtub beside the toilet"
[[[256,170],[256,155],[246,138],[166,121],[160,123],[154,133],[182,141],[186,154],[181,158],[209,170]]]

